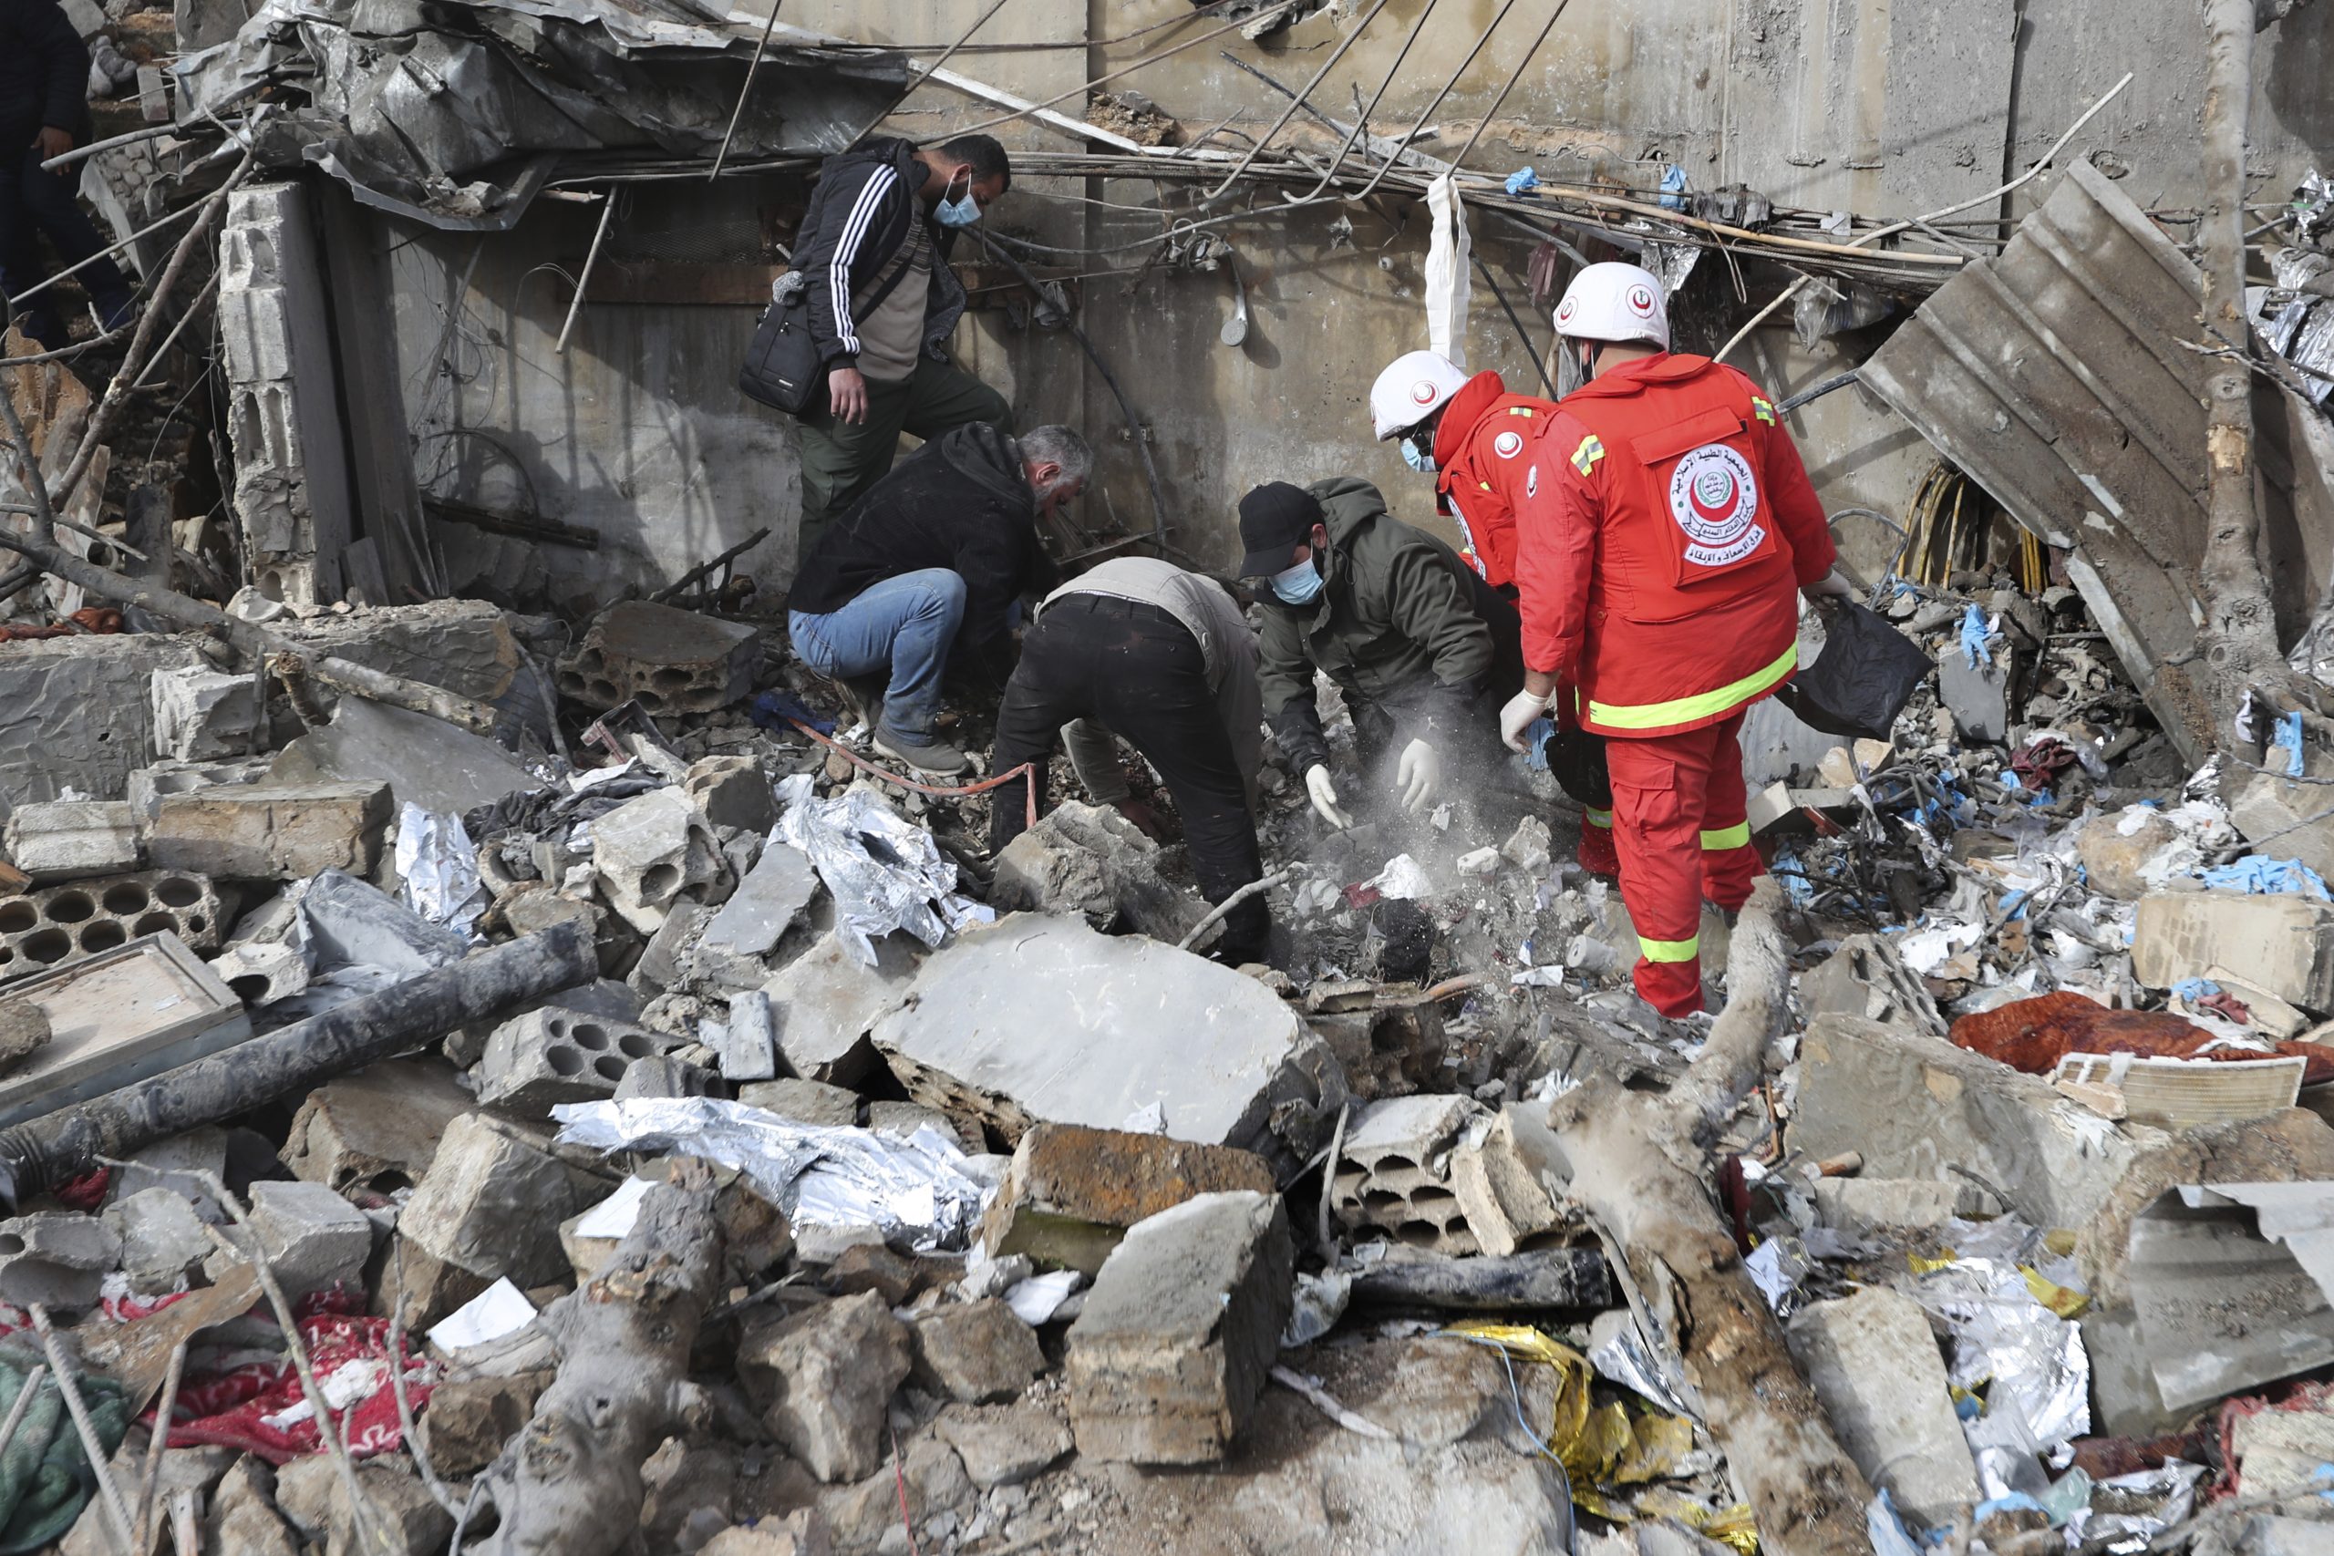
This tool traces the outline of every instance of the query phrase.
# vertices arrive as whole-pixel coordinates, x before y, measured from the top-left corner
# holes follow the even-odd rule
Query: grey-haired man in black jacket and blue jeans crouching
[[[971,422],[915,450],[819,537],[794,576],[787,632],[824,677],[889,677],[878,751],[917,772],[971,765],[934,735],[941,677],[962,651],[1004,679],[1020,597],[1053,581],[1036,520],[1074,499],[1092,464],[1069,427],[1013,439]]]

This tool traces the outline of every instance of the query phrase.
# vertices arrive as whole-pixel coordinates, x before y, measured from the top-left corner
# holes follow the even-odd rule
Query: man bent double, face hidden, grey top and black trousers
[[[1223,586],[1174,562],[1116,558],[1048,595],[997,709],[990,761],[990,772],[1034,761],[1039,809],[1057,728],[1088,793],[1139,826],[1148,816],[1127,798],[1111,735],[1125,735],[1158,768],[1209,903],[1263,875],[1256,635]],[[1025,784],[994,791],[992,849],[1020,835],[1027,805]],[[1263,961],[1267,926],[1265,898],[1251,896],[1225,914],[1216,954],[1232,966]]]

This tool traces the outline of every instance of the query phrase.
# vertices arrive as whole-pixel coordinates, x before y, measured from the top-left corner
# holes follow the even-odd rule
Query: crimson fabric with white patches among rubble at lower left
[[[364,1292],[317,1292],[303,1297],[294,1313],[317,1386],[334,1393],[331,1379],[343,1367],[352,1367],[362,1381],[359,1393],[334,1411],[334,1425],[348,1451],[355,1458],[371,1458],[394,1449],[401,1430],[397,1390],[390,1383],[390,1320],[364,1316]],[[401,1365],[406,1397],[420,1411],[429,1400],[427,1379],[434,1369],[415,1358],[411,1346],[404,1348]],[[306,1400],[289,1353],[189,1376],[177,1390],[170,1446],[217,1442],[257,1453],[271,1465],[292,1463],[322,1446]],[[296,1418],[285,1421],[287,1414]]]

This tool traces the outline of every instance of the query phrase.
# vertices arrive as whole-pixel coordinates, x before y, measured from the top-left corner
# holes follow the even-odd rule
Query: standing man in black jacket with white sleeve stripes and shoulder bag
[[[826,364],[826,406],[801,418],[796,555],[808,558],[819,532],[892,469],[901,432],[929,441],[966,422],[1013,429],[1004,394],[948,362],[964,313],[948,254],[957,229],[1011,187],[1006,149],[990,135],[922,152],[868,140],[826,159],[794,254]]]

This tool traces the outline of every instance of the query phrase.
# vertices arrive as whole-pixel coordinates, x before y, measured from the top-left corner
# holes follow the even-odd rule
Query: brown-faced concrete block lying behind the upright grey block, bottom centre
[[[1025,1253],[1043,1267],[1095,1274],[1139,1220],[1197,1194],[1272,1187],[1265,1159],[1232,1145],[1032,1124],[980,1222],[980,1246],[992,1260]]]

